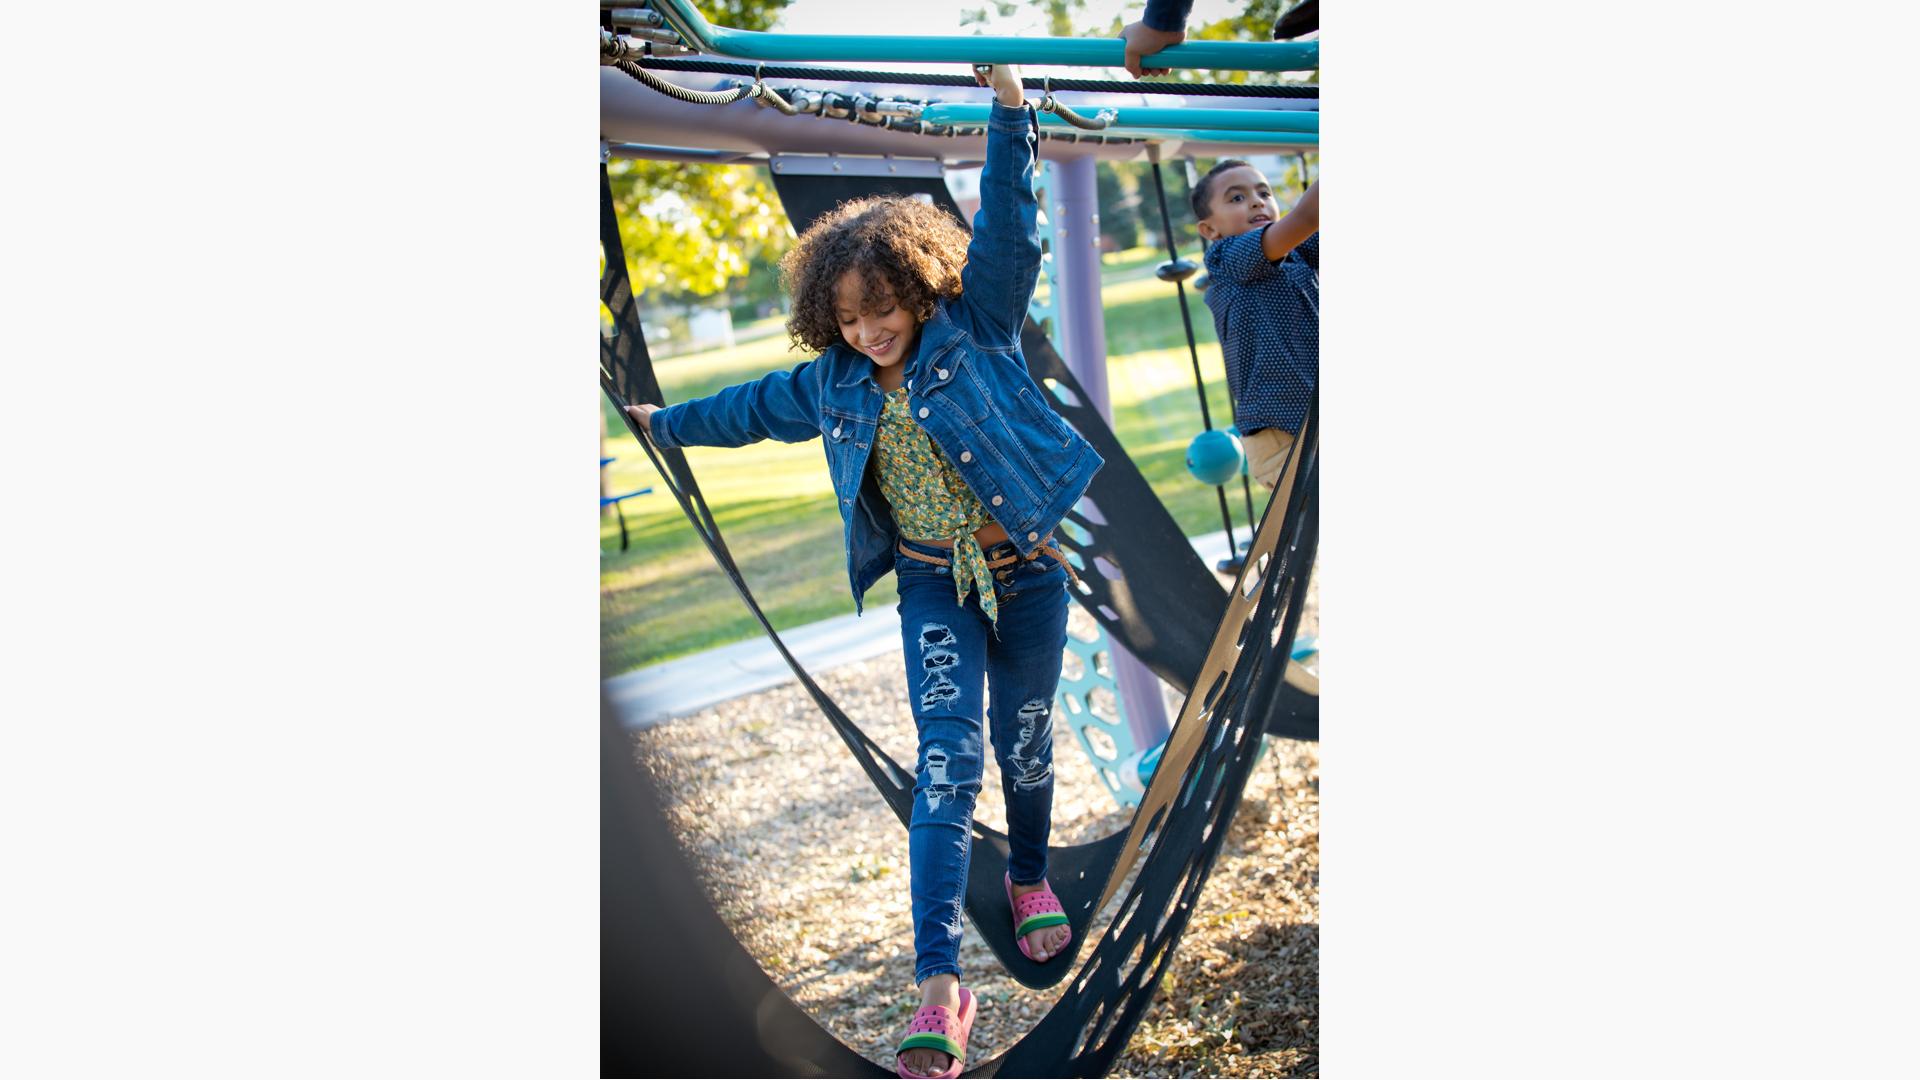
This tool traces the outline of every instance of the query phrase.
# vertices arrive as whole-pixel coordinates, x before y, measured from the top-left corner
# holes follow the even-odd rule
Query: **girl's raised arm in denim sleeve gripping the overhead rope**
[[[1027,304],[1041,277],[1041,204],[1033,198],[1033,131],[1027,123],[1020,69],[995,63],[973,71],[995,90],[987,117],[987,167],[979,173],[979,213],[960,271],[960,306],[973,315],[973,334],[985,346],[1020,344]]]

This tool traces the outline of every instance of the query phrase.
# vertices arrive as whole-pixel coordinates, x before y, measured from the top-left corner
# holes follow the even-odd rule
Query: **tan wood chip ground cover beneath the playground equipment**
[[[1309,632],[1315,607],[1309,601]],[[899,655],[814,676],[895,761],[914,759]],[[824,1028],[891,1068],[918,1003],[906,832],[806,692],[789,684],[737,698],[637,732],[634,744],[714,909],[747,951]],[[1054,844],[1125,826],[1129,811],[1064,723],[1054,763]],[[991,755],[975,813],[1006,826]],[[1110,917],[1094,922],[1096,934]],[[1037,992],[1008,978],[972,922],[960,965],[981,999],[975,1061],[1018,1042],[1064,988]],[[1110,1074],[1319,1074],[1317,744],[1267,740],[1194,920]]]

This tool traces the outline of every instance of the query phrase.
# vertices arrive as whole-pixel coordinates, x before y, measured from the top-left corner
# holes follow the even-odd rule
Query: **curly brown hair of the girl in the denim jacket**
[[[860,271],[860,309],[887,300],[925,323],[933,304],[960,296],[968,233],[945,209],[912,196],[868,196],[820,215],[780,259],[780,281],[793,296],[787,336],[793,348],[826,352],[841,342],[833,286]]]

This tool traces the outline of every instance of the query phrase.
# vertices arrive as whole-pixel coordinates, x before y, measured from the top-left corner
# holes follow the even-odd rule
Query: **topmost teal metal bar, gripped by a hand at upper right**
[[[1123,67],[1119,38],[785,35],[716,27],[689,0],[649,0],[687,46],[741,60],[866,60],[895,63],[1066,63]],[[1142,60],[1148,67],[1313,71],[1319,42],[1185,42]]]

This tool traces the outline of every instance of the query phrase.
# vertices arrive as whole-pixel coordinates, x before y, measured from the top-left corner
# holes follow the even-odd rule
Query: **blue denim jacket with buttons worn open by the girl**
[[[960,296],[935,306],[906,357],[914,417],[1021,553],[1033,552],[1104,463],[1027,375],[1020,329],[1041,271],[1027,111],[993,104],[979,213]],[[847,542],[854,609],[893,569],[899,530],[868,479],[883,394],[874,361],[835,344],[793,371],[653,413],[659,446],[745,446],[824,438]]]

